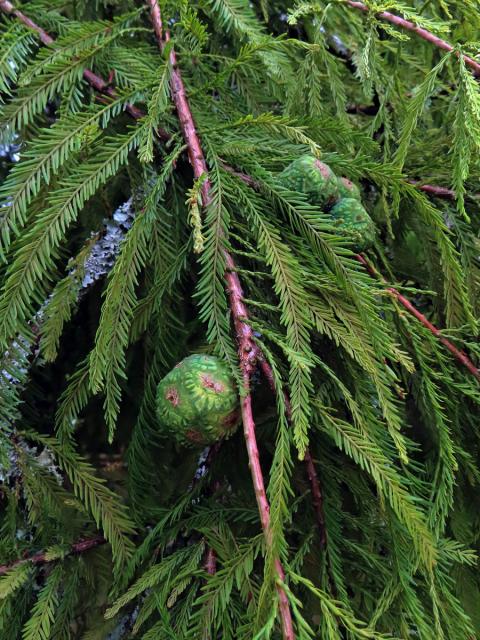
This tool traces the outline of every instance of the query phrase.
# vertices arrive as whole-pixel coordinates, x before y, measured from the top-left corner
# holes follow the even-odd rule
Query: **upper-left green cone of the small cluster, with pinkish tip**
[[[278,175],[278,181],[286,189],[304,193],[311,204],[321,209],[330,207],[340,197],[337,176],[328,164],[314,156],[303,155],[291,162]]]

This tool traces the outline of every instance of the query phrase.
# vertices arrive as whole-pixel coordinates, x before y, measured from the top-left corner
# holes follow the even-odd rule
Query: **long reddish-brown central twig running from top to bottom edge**
[[[158,46],[161,51],[164,50],[169,40],[168,31],[163,31],[162,16],[157,0],[149,0],[150,13],[155,34],[157,36]],[[185,92],[185,86],[181,77],[180,70],[177,67],[175,51],[172,47],[170,50],[170,62],[172,65],[171,88],[172,98],[177,109],[180,126],[185,143],[188,147],[188,156],[192,165],[193,174],[198,180],[203,178],[202,183],[202,204],[208,206],[211,202],[210,182],[208,180],[208,169],[205,157],[203,155],[200,138],[198,137],[193,116],[190,111],[190,105]],[[260,521],[268,545],[271,544],[270,530],[270,507],[268,504],[263,473],[260,466],[260,456],[258,452],[257,439],[255,435],[255,421],[252,412],[252,397],[250,394],[250,378],[255,367],[257,349],[253,342],[251,327],[244,322],[247,311],[243,303],[243,294],[239,277],[235,270],[235,264],[232,256],[224,251],[226,261],[225,279],[227,283],[228,294],[230,298],[230,307],[235,325],[238,341],[238,353],[240,367],[243,376],[243,397],[241,400],[242,421],[247,446],[248,459],[252,474],[252,481],[255,489],[258,510],[260,513]],[[285,574],[280,560],[274,560],[278,578],[281,582],[285,579]],[[290,612],[290,605],[285,590],[278,584],[277,586],[279,598],[279,611],[282,620],[283,637],[285,640],[293,640],[295,633],[293,630],[293,621]]]

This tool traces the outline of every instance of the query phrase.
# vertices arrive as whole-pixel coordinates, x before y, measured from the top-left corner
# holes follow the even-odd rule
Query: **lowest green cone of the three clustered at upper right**
[[[342,198],[330,210],[334,225],[347,236],[354,251],[365,251],[375,241],[375,223],[362,203],[355,198]]]

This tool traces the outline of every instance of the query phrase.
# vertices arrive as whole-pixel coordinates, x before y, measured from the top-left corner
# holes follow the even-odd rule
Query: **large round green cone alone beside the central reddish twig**
[[[215,356],[182,360],[157,388],[160,428],[185,446],[205,446],[237,429],[238,392],[228,366]]]

